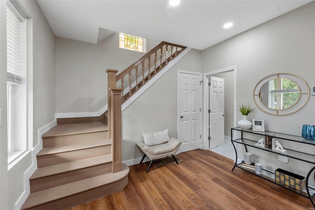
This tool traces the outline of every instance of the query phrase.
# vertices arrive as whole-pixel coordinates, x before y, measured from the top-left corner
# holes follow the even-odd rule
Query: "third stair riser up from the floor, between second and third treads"
[[[106,145],[102,147],[95,147],[84,150],[75,150],[56,154],[42,155],[37,156],[37,167],[41,168],[110,153],[111,145]]]

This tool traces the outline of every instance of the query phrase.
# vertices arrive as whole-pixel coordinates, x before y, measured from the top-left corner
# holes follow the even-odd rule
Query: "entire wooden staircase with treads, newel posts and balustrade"
[[[161,42],[119,75],[118,70],[107,69],[108,120],[105,115],[58,119],[42,135],[38,169],[30,178],[31,194],[21,209],[67,210],[123,189],[129,168],[122,164],[121,104],[184,49]]]

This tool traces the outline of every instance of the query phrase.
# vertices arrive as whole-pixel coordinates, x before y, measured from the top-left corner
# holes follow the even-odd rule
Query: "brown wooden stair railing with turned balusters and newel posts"
[[[112,140],[113,173],[122,170],[122,103],[140,87],[143,87],[184,49],[186,49],[184,46],[161,42],[120,74],[117,75],[118,70],[106,70],[108,73],[108,130],[109,138]],[[127,88],[125,89],[125,87]]]

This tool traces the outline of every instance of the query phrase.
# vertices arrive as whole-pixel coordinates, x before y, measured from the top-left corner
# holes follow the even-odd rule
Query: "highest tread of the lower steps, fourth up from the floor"
[[[72,124],[59,124],[42,135],[42,138],[75,135],[108,131],[106,122],[84,122]]]

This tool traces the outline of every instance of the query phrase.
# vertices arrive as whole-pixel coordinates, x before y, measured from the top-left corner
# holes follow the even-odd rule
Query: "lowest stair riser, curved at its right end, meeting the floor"
[[[96,200],[97,198],[105,197],[112,193],[115,193],[123,189],[128,183],[128,176],[122,180],[106,184],[104,186],[97,187],[95,189],[90,189],[88,191],[78,193],[72,196],[67,196],[63,199],[57,201],[52,201],[40,206],[33,208],[23,209],[23,210],[68,210],[72,207],[84,204],[89,201]]]

